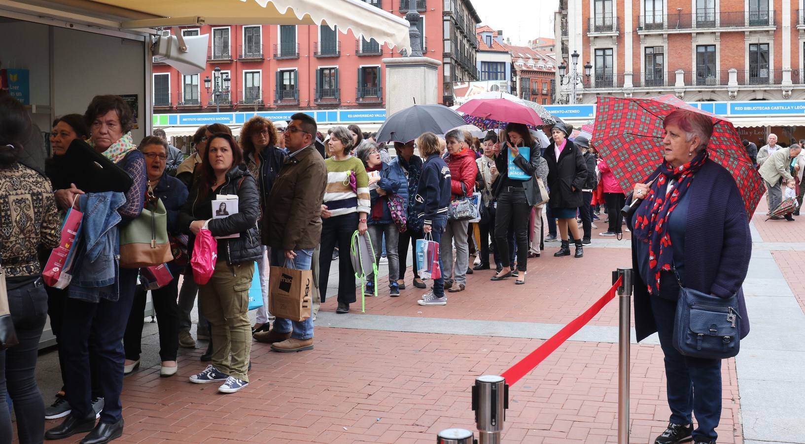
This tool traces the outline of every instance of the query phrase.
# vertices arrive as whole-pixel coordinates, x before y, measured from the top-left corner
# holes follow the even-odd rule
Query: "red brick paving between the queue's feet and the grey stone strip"
[[[448,305],[444,307],[416,304],[416,300],[430,288],[415,288],[409,269],[406,273],[407,288],[401,291],[401,297],[387,297],[386,280],[378,280],[379,297],[366,298],[366,313],[564,324],[606,293],[612,284],[612,270],[631,265],[629,248],[585,248],[581,259],[572,256],[555,258],[554,251],[555,248],[547,247],[542,257],[528,259],[524,285],[515,285],[514,278],[492,282],[489,277],[493,276],[493,270],[467,275],[467,289],[447,293]],[[430,286],[431,282],[427,284]],[[353,305],[353,311],[357,309],[360,313],[360,304],[358,301]],[[331,295],[321,309],[334,312],[336,305],[335,297]],[[607,305],[590,323],[617,326],[617,305]]]

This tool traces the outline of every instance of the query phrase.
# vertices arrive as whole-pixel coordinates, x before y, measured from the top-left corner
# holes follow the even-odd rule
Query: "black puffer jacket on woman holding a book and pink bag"
[[[218,240],[218,257],[226,258],[228,263],[242,263],[260,259],[262,246],[257,231],[259,197],[257,182],[246,171],[245,166],[234,167],[226,173],[224,185],[210,191],[206,198],[199,197],[201,181],[196,181],[190,191],[188,201],[182,206],[179,215],[180,229],[190,234],[190,245],[196,237],[190,232],[190,223],[207,220],[213,216],[211,202],[217,194],[237,194],[237,214],[209,221],[208,229],[213,236],[240,233],[240,237]]]

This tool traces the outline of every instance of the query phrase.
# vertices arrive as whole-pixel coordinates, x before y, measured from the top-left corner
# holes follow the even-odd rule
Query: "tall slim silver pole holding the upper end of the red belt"
[[[618,276],[623,277],[617,294],[621,303],[620,332],[618,335],[618,364],[617,364],[617,442],[629,444],[629,371],[631,347],[631,317],[632,311],[632,269],[618,268]]]

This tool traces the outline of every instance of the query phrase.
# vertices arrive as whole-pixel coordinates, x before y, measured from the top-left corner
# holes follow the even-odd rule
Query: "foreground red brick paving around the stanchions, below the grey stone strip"
[[[540,343],[320,328],[314,351],[279,354],[255,343],[252,382],[232,395],[188,382],[203,368],[196,351],[172,378],[159,378],[157,367],[126,377],[118,442],[429,444],[441,429],[474,429],[474,378],[501,373]],[[662,351],[633,346],[632,363],[630,442],[653,442],[669,416]],[[738,443],[732,359],[722,373],[719,442]],[[503,442],[616,442],[616,412],[617,345],[568,342],[511,389]]]

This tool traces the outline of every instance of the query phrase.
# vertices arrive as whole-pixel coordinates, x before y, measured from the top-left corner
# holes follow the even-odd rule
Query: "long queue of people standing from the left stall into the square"
[[[464,291],[467,274],[492,269],[490,256],[495,265],[490,280],[514,277],[515,284],[524,284],[528,259],[540,256],[544,242],[557,239],[557,227],[561,247],[555,256],[571,255],[572,243],[574,257],[583,257],[602,204],[609,214],[609,230],[602,234],[621,234],[622,190],[588,139],[570,140],[572,127],[563,122],[546,125],[543,134],[510,123],[482,140],[453,130],[392,145],[378,143],[354,125],[333,127],[325,136],[308,114],[294,114],[284,128],[255,116],[239,139],[220,123],[200,127],[192,136],[192,154],[183,159],[164,131],[135,145],[130,107],[118,96],[105,95],[93,98],[83,115],[56,119],[53,156],[40,166],[25,158],[32,131],[23,106],[0,97],[0,119],[2,268],[20,342],[0,351],[5,375],[0,396],[14,402],[20,442],[89,433],[81,442],[95,444],[121,436],[122,381],[140,363],[147,292],[138,284],[137,268],[120,266],[118,238],[156,198],[167,212],[174,257],[167,263],[172,280],[151,292],[159,374],[175,375],[179,347],[195,348],[196,340],[205,340],[201,360],[209,364],[189,380],[219,383],[223,393],[249,384],[253,338],[279,352],[313,348],[313,322],[326,301],[332,260],[338,251],[346,256],[355,231],[369,233],[377,246],[376,264],[388,263],[390,297],[406,289],[409,247],[414,251],[423,238],[440,243],[442,276],[419,305],[445,305],[444,292]],[[130,188],[89,193],[66,180],[62,158],[76,139],[125,171]],[[510,174],[510,159],[525,178]],[[475,192],[481,194],[480,242],[466,218],[450,217],[450,206]],[[213,217],[212,201],[219,194],[237,195],[239,211],[229,214],[221,207]],[[63,289],[49,287],[43,284],[42,264],[59,243],[61,220],[71,209],[84,213],[82,230],[93,234],[76,246],[72,282]],[[219,239],[213,276],[197,284],[189,259],[202,229],[235,237]],[[291,321],[268,313],[267,265],[312,270],[311,317]],[[412,265],[411,284],[427,288],[416,261]],[[349,313],[357,301],[355,271],[346,257],[338,268],[336,313]],[[255,272],[265,303],[252,325],[247,307]],[[376,290],[370,283],[365,294]],[[47,408],[35,382],[46,315],[64,384]],[[4,410],[0,440],[7,441],[12,429]],[[60,425],[44,431],[44,419],[61,417]]]

